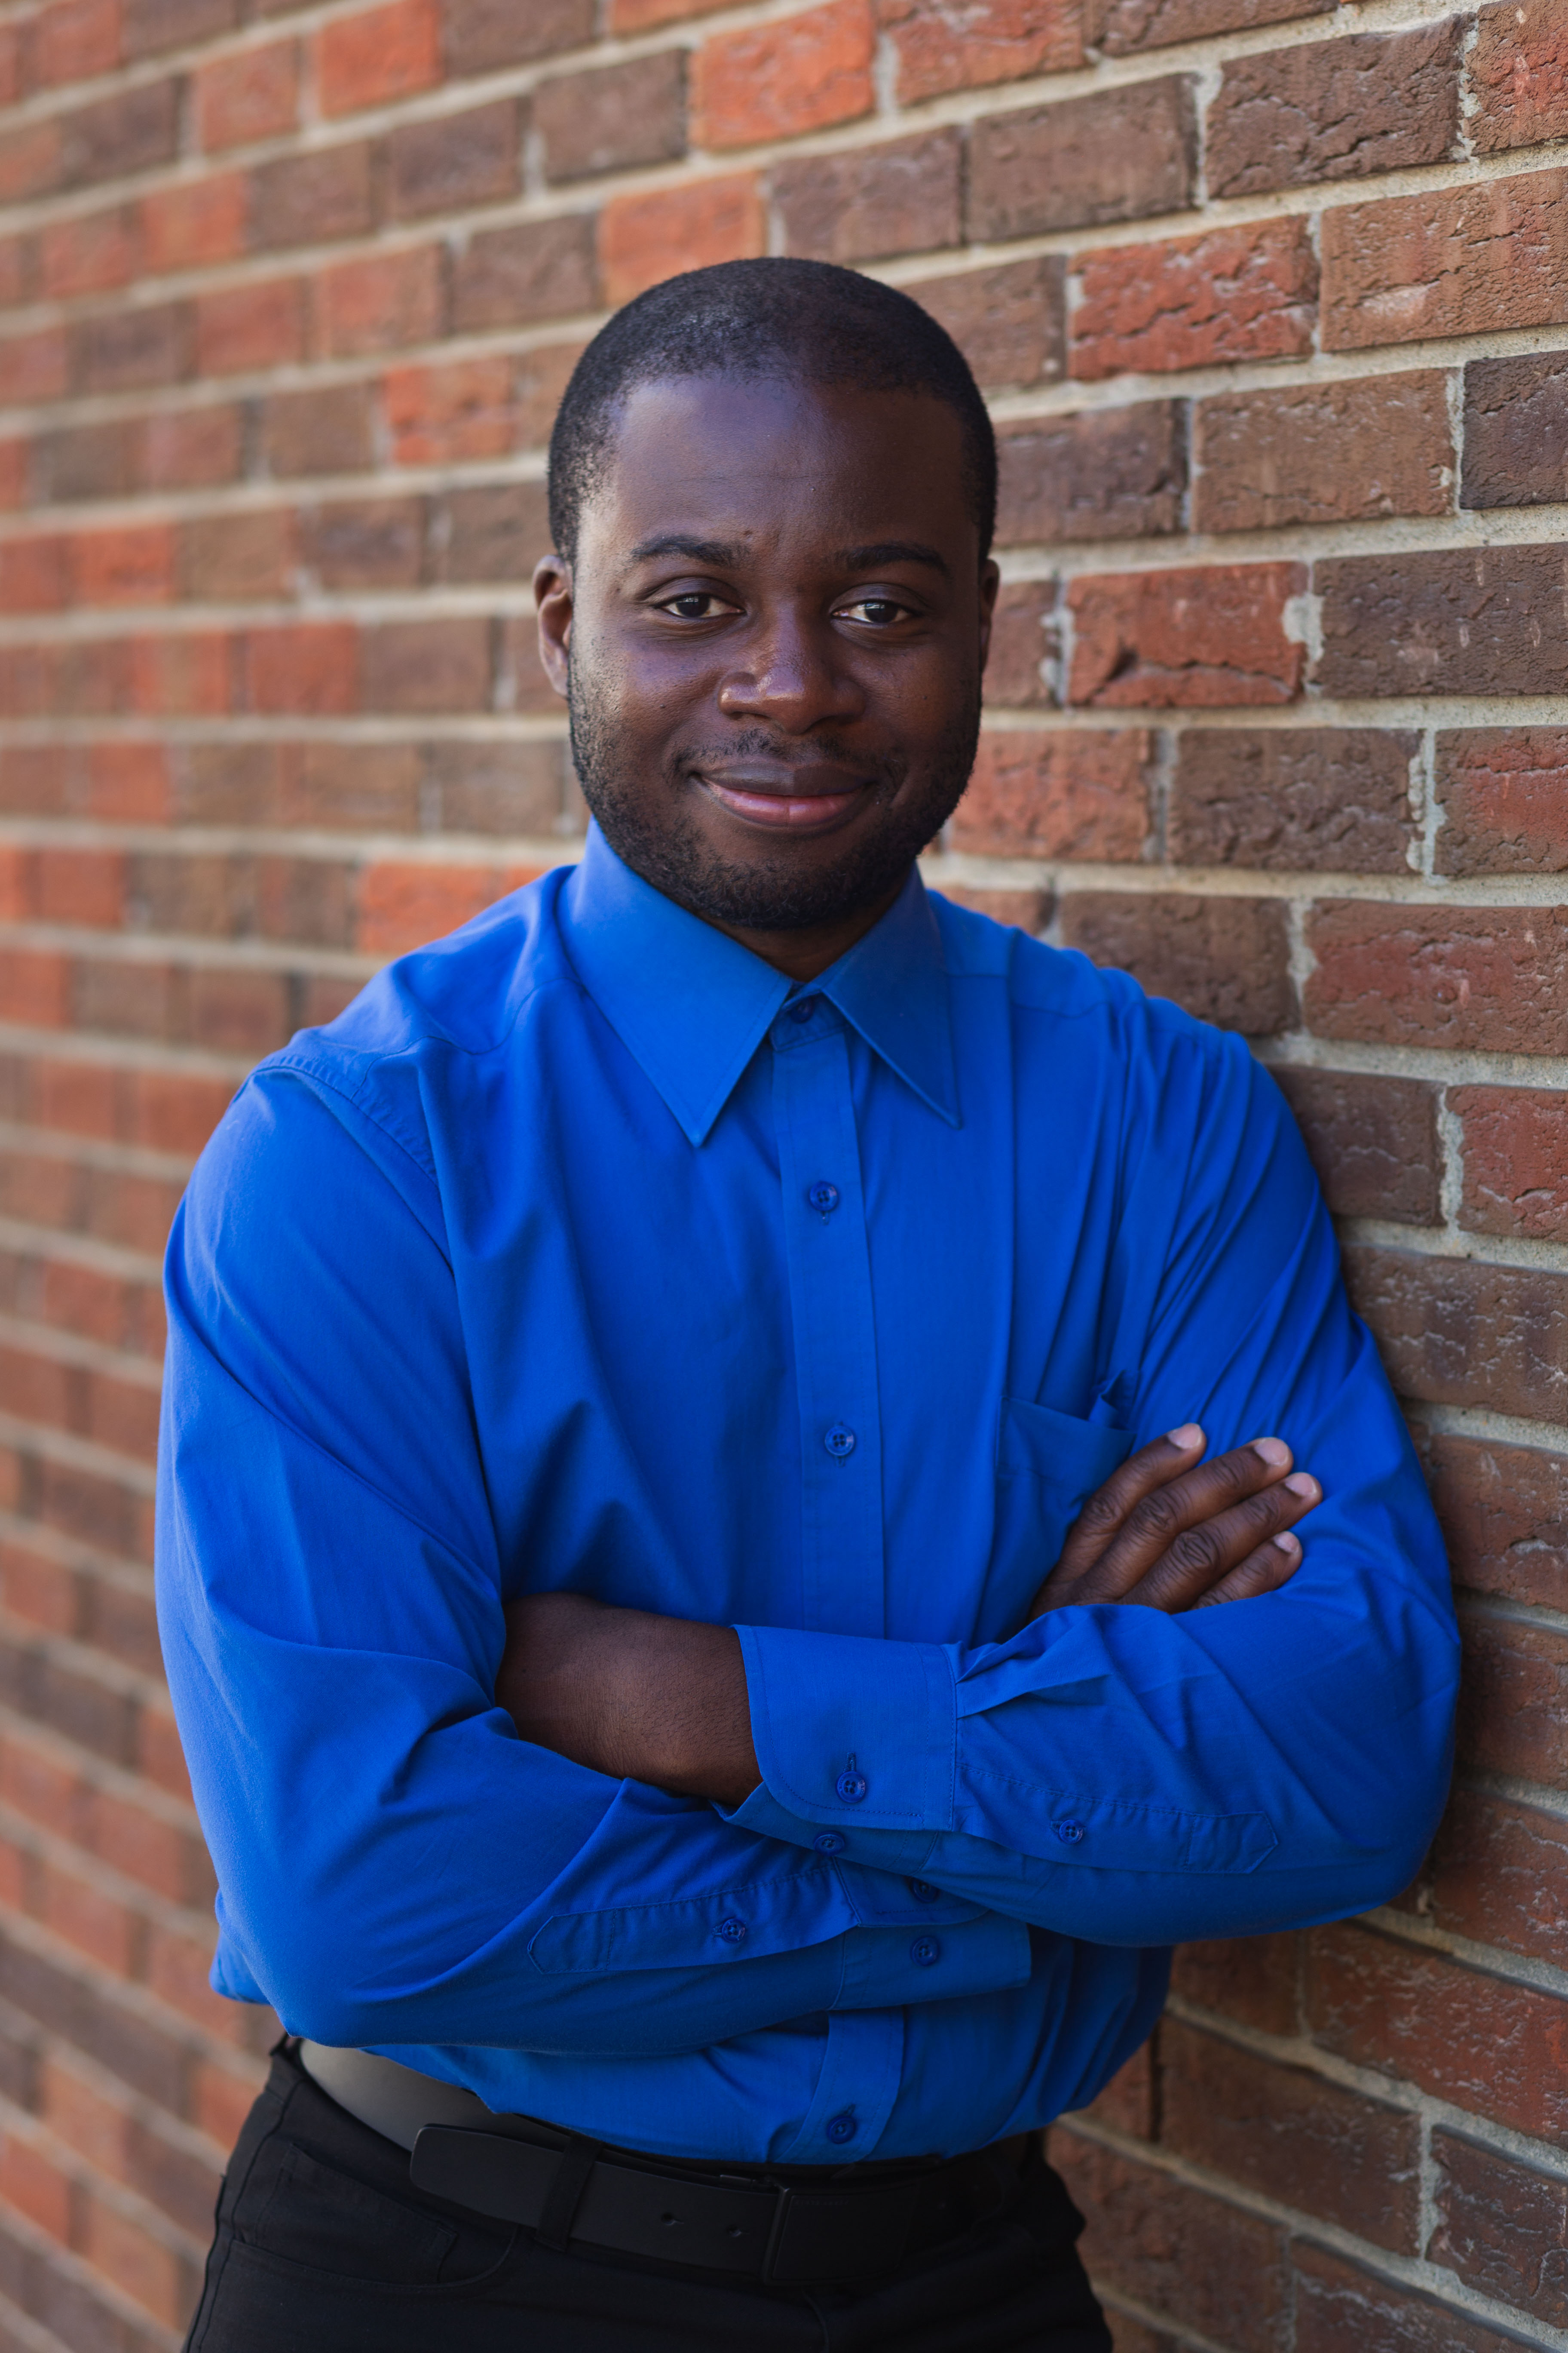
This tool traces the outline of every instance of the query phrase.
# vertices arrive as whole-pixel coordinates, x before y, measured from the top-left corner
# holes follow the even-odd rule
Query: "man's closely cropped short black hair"
[[[715,261],[637,294],[599,327],[571,369],[550,433],[550,536],[576,555],[583,506],[637,384],[670,376],[844,384],[929,393],[957,412],[964,489],[990,555],[997,529],[997,435],[969,360],[898,287],[835,261]]]

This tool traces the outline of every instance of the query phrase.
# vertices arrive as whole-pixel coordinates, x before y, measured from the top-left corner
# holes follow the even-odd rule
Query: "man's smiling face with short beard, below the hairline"
[[[994,591],[945,402],[639,386],[536,574],[607,840],[726,929],[879,913],[969,779]]]

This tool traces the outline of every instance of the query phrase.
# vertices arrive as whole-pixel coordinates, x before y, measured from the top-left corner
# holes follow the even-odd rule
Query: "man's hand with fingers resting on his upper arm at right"
[[[1187,1421],[1112,1471],[1072,1522],[1030,1619],[1074,1602],[1206,1609],[1288,1584],[1302,1560],[1291,1525],[1324,1489],[1291,1471],[1281,1438],[1255,1438],[1208,1464],[1201,1452],[1204,1433]]]

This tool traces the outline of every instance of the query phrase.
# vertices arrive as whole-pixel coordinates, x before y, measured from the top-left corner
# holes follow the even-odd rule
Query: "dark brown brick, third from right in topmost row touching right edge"
[[[969,235],[1032,238],[1192,202],[1187,75],[985,115],[969,144]]]

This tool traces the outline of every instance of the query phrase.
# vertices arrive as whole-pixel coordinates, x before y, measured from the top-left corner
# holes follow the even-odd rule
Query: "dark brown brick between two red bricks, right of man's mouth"
[[[1192,727],[1178,736],[1180,866],[1403,873],[1420,736],[1378,727]]]

